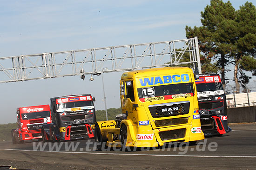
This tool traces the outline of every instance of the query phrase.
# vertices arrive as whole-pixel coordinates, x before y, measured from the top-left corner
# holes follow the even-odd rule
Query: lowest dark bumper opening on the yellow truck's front
[[[186,129],[175,129],[171,131],[162,131],[158,133],[161,140],[171,140],[171,139],[179,139],[184,138],[186,134]]]

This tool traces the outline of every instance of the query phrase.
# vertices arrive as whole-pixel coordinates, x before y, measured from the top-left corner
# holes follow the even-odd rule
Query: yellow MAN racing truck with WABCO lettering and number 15
[[[98,150],[106,146],[157,147],[168,142],[195,145],[204,139],[194,77],[188,67],[123,73],[122,115],[95,123]]]

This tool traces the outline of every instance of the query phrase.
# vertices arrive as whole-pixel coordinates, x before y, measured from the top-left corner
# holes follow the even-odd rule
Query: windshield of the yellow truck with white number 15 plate
[[[163,95],[194,93],[193,84],[191,82],[168,84],[162,86],[151,86],[146,88],[138,88],[137,90],[140,99],[146,97],[158,97]]]

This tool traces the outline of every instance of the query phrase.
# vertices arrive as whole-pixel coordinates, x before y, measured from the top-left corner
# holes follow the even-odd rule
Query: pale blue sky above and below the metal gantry
[[[223,0],[226,2],[227,0]],[[230,0],[238,9],[246,0]],[[252,1],[256,5],[255,0]],[[201,25],[210,0],[1,0],[0,57],[185,39]],[[107,107],[120,107],[119,73],[104,74]],[[16,122],[17,107],[49,98],[92,94],[104,109],[101,77],[79,76],[0,84],[0,124]]]

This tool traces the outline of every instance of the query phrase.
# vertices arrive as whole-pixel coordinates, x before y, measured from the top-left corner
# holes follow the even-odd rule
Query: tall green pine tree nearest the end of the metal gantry
[[[218,66],[221,66],[222,84],[225,86],[225,65],[227,58],[229,57],[232,45],[227,42],[230,40],[223,37],[222,34],[225,32],[222,29],[222,25],[228,22],[230,27],[232,20],[235,19],[235,8],[228,1],[227,3],[222,0],[211,0],[210,6],[206,6],[204,12],[201,12],[201,27],[194,27],[192,29],[186,26],[187,38],[197,36],[200,50],[204,53],[206,59],[216,58],[218,59]],[[232,35],[232,34],[231,34]]]

